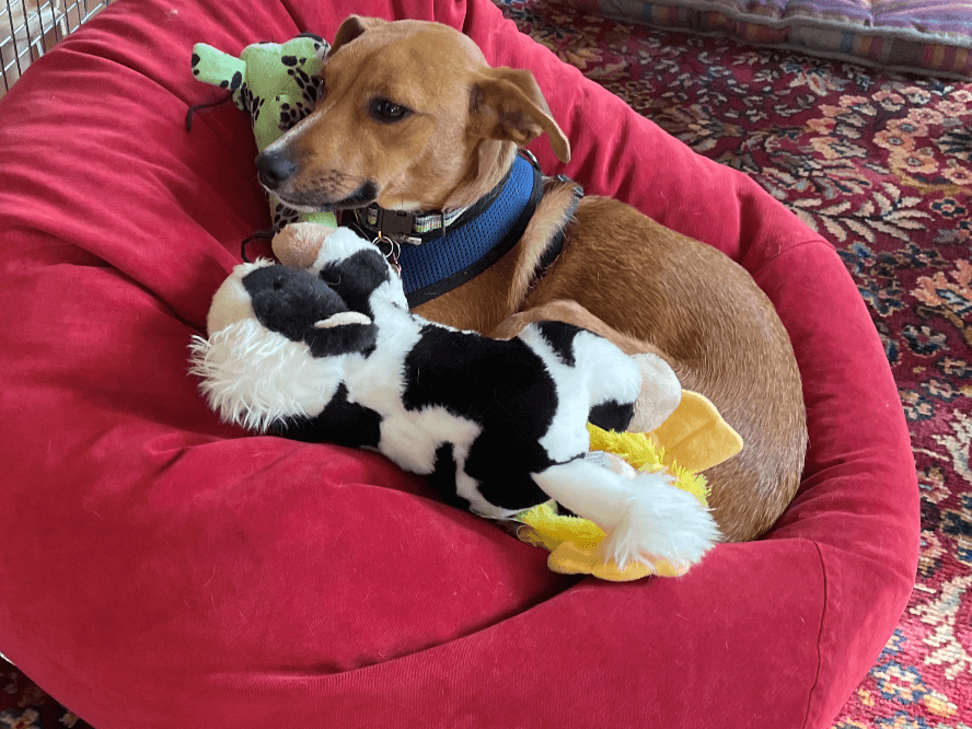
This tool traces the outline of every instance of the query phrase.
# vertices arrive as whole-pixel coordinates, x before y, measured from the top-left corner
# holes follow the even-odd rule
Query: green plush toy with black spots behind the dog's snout
[[[233,103],[250,114],[256,149],[262,152],[314,109],[323,83],[317,72],[331,49],[324,38],[301,33],[284,45],[254,43],[240,58],[205,43],[193,46],[193,76],[232,92]],[[336,225],[333,212],[298,212],[270,196],[274,231],[291,222]]]

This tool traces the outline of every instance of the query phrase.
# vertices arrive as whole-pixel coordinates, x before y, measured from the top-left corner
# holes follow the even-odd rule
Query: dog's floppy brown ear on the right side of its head
[[[570,142],[551,116],[551,109],[530,71],[489,68],[473,83],[470,97],[473,131],[486,139],[520,147],[544,131],[560,162],[570,160]]]

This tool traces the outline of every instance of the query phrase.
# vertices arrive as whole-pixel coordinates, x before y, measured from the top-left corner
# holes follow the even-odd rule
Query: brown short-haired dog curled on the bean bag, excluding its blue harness
[[[316,109],[257,158],[263,185],[298,210],[450,211],[497,186],[542,132],[570,157],[533,76],[489,68],[444,25],[351,16],[322,76]],[[606,198],[583,198],[571,218],[572,200],[570,185],[548,184],[516,247],[417,312],[500,337],[568,321],[658,354],[742,436],[742,452],[706,472],[710,505],[727,540],[759,536],[796,493],[807,448],[800,375],[772,303],[715,248]]]

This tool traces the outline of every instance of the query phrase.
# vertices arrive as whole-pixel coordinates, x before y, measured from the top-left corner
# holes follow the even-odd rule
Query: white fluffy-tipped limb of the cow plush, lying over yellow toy
[[[672,486],[668,474],[643,472],[626,478],[580,459],[533,477],[551,498],[608,533],[602,552],[620,569],[632,560],[653,567],[652,558],[687,567],[719,540],[708,509]]]

